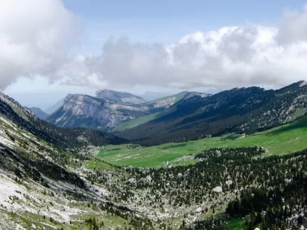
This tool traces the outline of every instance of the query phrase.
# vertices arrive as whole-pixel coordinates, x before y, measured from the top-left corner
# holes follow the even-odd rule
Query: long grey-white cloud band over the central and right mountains
[[[307,42],[282,45],[276,40],[279,30],[252,24],[225,27],[167,45],[109,40],[101,55],[78,57],[58,74],[68,78],[67,84],[97,88],[283,86],[305,78]]]

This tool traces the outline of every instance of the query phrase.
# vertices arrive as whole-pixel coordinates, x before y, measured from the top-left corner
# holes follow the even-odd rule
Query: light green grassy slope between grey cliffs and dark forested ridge
[[[153,104],[153,103],[156,103],[156,102],[159,102],[159,101],[167,100],[168,98],[172,98],[174,96],[176,97],[174,103],[176,103],[176,102],[180,101],[181,99],[183,99],[183,97],[186,94],[187,94],[187,92],[182,92],[182,93],[179,93],[177,95],[172,95],[172,96],[167,96],[167,97],[164,97],[164,98],[156,99],[156,100],[147,102],[146,104]],[[123,130],[126,130],[126,129],[134,128],[136,126],[145,124],[145,123],[150,122],[152,120],[161,118],[161,117],[167,115],[168,113],[174,112],[175,110],[176,110],[176,107],[173,106],[170,109],[167,109],[167,110],[164,110],[164,111],[161,111],[161,112],[152,113],[152,114],[149,114],[147,116],[144,116],[144,117],[141,117],[141,118],[138,118],[138,119],[130,120],[128,122],[122,123],[122,124],[114,127],[114,129],[112,131],[123,131]]]

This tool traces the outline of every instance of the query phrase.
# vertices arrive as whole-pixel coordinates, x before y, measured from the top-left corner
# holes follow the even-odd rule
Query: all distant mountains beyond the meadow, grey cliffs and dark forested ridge
[[[243,87],[215,95],[184,91],[149,102],[108,89],[96,96],[68,95],[46,120],[59,127],[113,131],[131,142],[157,145],[266,130],[292,122],[307,108],[305,81],[277,90]]]

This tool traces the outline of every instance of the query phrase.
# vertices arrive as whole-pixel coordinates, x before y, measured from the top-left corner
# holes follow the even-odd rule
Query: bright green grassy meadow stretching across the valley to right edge
[[[159,167],[182,156],[211,148],[238,148],[263,146],[266,156],[286,154],[307,148],[307,119],[283,125],[246,137],[229,134],[186,143],[168,143],[159,146],[131,148],[129,145],[106,146],[97,157],[118,166]],[[241,138],[239,138],[241,137]]]

